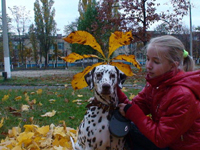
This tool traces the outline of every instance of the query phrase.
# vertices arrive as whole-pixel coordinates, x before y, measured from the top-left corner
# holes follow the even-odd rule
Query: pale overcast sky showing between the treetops
[[[13,7],[13,6],[25,6],[26,10],[30,10],[30,18],[33,22],[34,20],[34,2],[35,0],[5,0],[6,7]],[[162,0],[170,1],[170,0]],[[190,0],[193,4],[192,7],[192,25],[193,26],[200,26],[200,0]],[[60,29],[58,33],[63,33],[63,29],[65,25],[70,24],[72,21],[75,21],[78,18],[78,3],[79,0],[54,0],[54,8],[56,10],[55,14],[55,21],[57,23],[57,28]],[[0,3],[1,6],[1,3]],[[2,8],[2,7],[0,7]],[[166,6],[160,6],[159,10],[163,10]],[[7,9],[7,13],[11,14],[10,10]],[[12,17],[10,15],[10,17]],[[183,24],[189,27],[189,16],[184,17]],[[152,27],[153,29],[154,27]]]

